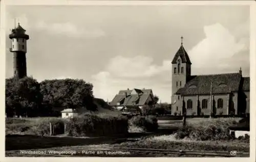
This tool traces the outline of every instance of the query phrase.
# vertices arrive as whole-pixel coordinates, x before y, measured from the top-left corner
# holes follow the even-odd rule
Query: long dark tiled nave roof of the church
[[[212,74],[193,76],[176,94],[200,95],[222,94],[239,91],[242,75],[240,73]],[[212,83],[212,88],[210,91]]]

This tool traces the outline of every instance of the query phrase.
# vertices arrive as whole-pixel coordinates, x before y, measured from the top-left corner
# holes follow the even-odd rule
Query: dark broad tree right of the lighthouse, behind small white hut
[[[44,95],[44,105],[51,107],[66,107],[97,111],[93,99],[93,85],[82,79],[54,79],[40,83],[41,93]]]

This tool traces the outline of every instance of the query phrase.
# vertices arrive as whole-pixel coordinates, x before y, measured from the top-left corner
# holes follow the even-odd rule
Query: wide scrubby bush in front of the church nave
[[[197,124],[187,124],[179,128],[176,133],[176,139],[189,138],[191,140],[230,140],[228,127],[236,124],[232,119],[209,119],[209,121],[199,122]]]

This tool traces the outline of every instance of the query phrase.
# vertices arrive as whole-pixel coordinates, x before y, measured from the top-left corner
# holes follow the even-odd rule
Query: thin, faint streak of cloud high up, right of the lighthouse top
[[[45,21],[38,21],[35,23],[35,28],[48,31],[51,34],[62,34],[70,37],[101,37],[105,35],[100,29],[86,30],[78,28],[78,26],[71,22],[46,23]]]

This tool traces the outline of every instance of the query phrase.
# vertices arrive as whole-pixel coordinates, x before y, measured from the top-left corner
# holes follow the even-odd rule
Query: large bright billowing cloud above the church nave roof
[[[244,27],[244,25],[240,26],[239,29]],[[235,31],[236,35],[238,35],[238,30]],[[209,73],[209,71],[207,72],[209,68],[215,72],[221,72],[223,68],[237,68],[237,65],[232,63],[232,60],[234,62],[237,61],[239,58],[234,56],[238,54],[244,55],[244,52],[248,50],[248,38],[238,39],[220,23],[204,26],[204,33],[205,38],[188,51],[193,64],[192,68],[203,74]]]

